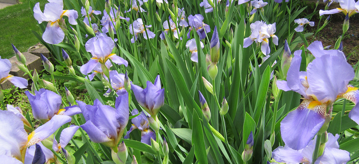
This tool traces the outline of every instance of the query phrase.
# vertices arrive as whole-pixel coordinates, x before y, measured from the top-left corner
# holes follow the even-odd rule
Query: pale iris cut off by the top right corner
[[[340,13],[343,12],[345,15],[348,13],[349,17],[351,15],[354,15],[355,13],[358,13],[358,9],[359,9],[359,1],[355,2],[355,0],[338,0],[339,1],[339,5],[341,8],[335,8],[335,9],[331,9],[331,10],[319,10],[319,15],[324,15],[324,14],[335,14],[335,13]]]

